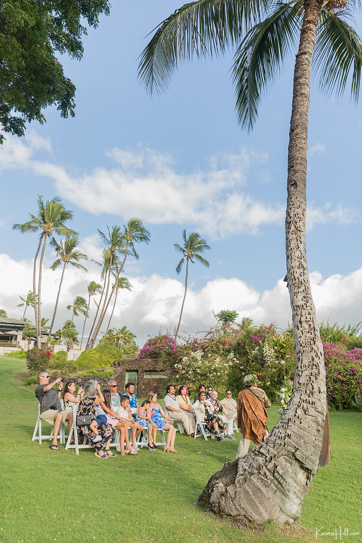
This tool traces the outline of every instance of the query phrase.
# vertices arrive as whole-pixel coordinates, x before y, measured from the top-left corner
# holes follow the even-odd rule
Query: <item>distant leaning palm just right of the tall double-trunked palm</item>
[[[60,243],[56,241],[56,239],[52,239],[50,242],[52,245],[56,256],[58,257],[50,266],[50,269],[53,271],[60,266],[60,264],[63,265],[60,282],[59,282],[59,288],[58,288],[58,294],[56,295],[56,301],[54,306],[54,312],[53,312],[53,318],[52,323],[49,327],[49,333],[48,333],[48,339],[46,346],[48,345],[48,341],[50,339],[50,335],[52,334],[53,326],[54,326],[54,320],[56,315],[56,310],[58,308],[58,302],[59,302],[59,295],[60,295],[60,289],[63,282],[64,272],[67,264],[71,264],[74,268],[81,269],[84,271],[87,271],[87,268],[79,264],[80,260],[87,260],[87,255],[83,254],[82,252],[78,251],[76,248],[79,245],[78,238],[77,237],[66,237],[65,239],[62,239]]]

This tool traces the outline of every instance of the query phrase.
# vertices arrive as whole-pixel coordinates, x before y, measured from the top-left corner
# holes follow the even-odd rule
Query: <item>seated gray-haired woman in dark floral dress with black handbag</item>
[[[100,392],[100,385],[97,381],[91,379],[84,386],[84,398],[79,403],[79,414],[81,415],[90,415],[93,419],[94,417],[94,405],[104,402],[103,394]],[[110,443],[113,438],[114,429],[110,424],[101,424],[98,426],[99,434],[96,435],[91,428],[86,425],[80,426],[80,431],[85,437],[90,441],[91,445],[97,449],[94,453],[94,456],[97,458],[106,459],[110,456],[105,454],[104,448],[109,451]],[[100,436],[100,440],[99,440]]]

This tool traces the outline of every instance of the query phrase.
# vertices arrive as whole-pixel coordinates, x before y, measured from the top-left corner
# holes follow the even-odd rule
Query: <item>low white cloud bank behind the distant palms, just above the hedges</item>
[[[81,247],[91,249],[92,241],[84,240]],[[93,251],[95,249],[93,248]],[[51,318],[53,314],[56,292],[58,291],[61,270],[51,271],[45,264],[42,283],[42,315]],[[87,297],[86,286],[92,280],[99,280],[98,268],[88,263],[89,273],[85,274],[74,268],[66,270],[63,282],[59,310],[55,326],[59,327],[69,318],[66,306],[71,304],[76,295]],[[5,288],[0,295],[0,307],[7,310],[10,317],[21,317],[22,310],[17,308],[18,294],[23,297],[31,288],[33,264],[31,261],[15,261],[10,256],[0,255],[0,282]],[[177,324],[182,303],[184,287],[182,280],[161,277],[153,274],[150,277],[127,274],[132,292],[120,291],[117,300],[112,326],[126,325],[136,333],[138,341],[143,344],[148,334],[154,334],[160,326],[172,329]],[[360,320],[362,304],[362,268],[347,276],[331,275],[325,279],[317,271],[310,274],[310,283],[319,321],[329,318],[338,321],[357,323]],[[181,323],[181,331],[196,333],[206,330],[215,324],[212,311],[222,309],[236,310],[240,319],[251,317],[256,324],[269,324],[271,321],[279,326],[291,321],[291,310],[288,289],[279,279],[270,290],[258,292],[236,277],[225,279],[219,277],[208,281],[201,289],[188,288],[185,309]],[[95,306],[91,305],[91,318],[87,322],[86,331],[90,329]],[[109,312],[110,314],[110,312]],[[106,327],[107,315],[103,328]],[[29,318],[33,313],[28,310]],[[75,318],[78,331],[82,329],[83,320]]]

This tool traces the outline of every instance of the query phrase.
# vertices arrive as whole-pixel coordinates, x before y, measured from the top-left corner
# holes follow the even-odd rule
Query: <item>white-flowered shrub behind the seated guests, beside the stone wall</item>
[[[233,364],[239,364],[233,351],[219,357],[202,351],[190,352],[174,364],[174,380],[193,392],[199,383],[209,383],[215,390],[224,389]]]

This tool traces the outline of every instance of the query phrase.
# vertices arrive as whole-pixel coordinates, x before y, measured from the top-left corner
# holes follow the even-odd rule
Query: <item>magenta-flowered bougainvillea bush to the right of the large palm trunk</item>
[[[346,351],[323,344],[327,399],[334,409],[354,409],[355,394],[362,392],[362,349]]]

